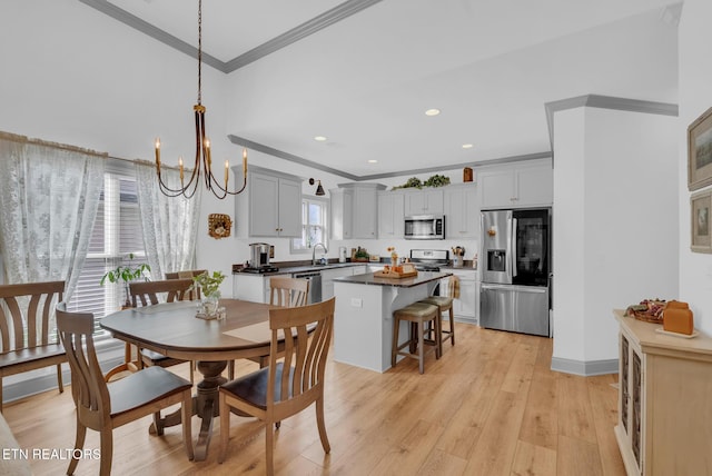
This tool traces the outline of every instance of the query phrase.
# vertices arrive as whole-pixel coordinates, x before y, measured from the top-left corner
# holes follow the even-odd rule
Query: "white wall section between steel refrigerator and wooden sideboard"
[[[555,113],[554,361],[617,357],[613,308],[679,298],[678,118]]]

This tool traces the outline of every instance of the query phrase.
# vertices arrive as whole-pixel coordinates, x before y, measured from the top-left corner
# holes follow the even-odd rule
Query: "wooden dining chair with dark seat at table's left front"
[[[107,384],[93,344],[93,324],[91,313],[68,313],[65,303],[57,306],[57,327],[67,350],[77,407],[77,436],[67,474],[75,473],[79,456],[83,454],[87,428],[99,432],[99,474],[108,476],[113,454],[113,428],[154,415],[156,433],[162,435],[160,410],[176,404],[181,404],[182,439],[188,459],[192,459],[192,384],[161,367],[149,367]]]

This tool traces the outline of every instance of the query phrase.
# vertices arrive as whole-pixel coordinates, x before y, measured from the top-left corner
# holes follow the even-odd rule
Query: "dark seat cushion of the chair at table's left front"
[[[190,380],[162,367],[145,368],[109,384],[111,415],[119,415],[189,388],[192,388]]]

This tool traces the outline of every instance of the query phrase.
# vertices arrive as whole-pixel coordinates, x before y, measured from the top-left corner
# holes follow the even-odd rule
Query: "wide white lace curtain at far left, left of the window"
[[[8,284],[77,286],[106,155],[0,132],[0,254]]]

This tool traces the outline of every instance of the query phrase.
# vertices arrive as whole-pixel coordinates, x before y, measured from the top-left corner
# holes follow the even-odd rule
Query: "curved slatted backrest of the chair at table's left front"
[[[72,396],[80,418],[108,424],[111,400],[93,344],[93,315],[68,313],[60,303],[57,329],[71,368]]]

